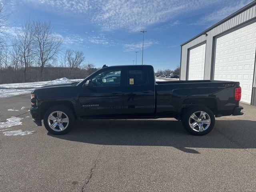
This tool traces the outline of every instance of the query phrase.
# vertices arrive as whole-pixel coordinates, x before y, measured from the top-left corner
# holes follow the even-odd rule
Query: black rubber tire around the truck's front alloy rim
[[[55,130],[53,130],[52,128],[50,128],[50,125],[48,124],[48,117],[50,114],[52,114],[52,112],[55,111],[60,111],[62,113],[64,113],[64,117],[67,116],[68,117],[68,124],[66,124],[66,128],[64,130],[60,130],[60,128],[58,127],[58,125],[56,126]],[[63,117],[63,116],[62,116]],[[55,134],[55,135],[62,135],[62,134],[66,134],[68,132],[70,132],[70,130],[72,129],[73,125],[74,125],[74,112],[72,109],[70,109],[67,106],[64,105],[56,105],[56,106],[52,106],[51,108],[49,108],[46,113],[44,114],[44,127],[46,128],[46,130],[48,130],[48,132]],[[51,120],[50,123],[52,123],[53,121]],[[63,126],[65,126],[65,123],[63,122]],[[59,129],[59,130],[58,130]]]

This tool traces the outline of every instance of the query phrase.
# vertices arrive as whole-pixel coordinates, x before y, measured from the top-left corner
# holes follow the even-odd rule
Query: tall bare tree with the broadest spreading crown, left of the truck
[[[53,33],[50,22],[34,21],[33,31],[34,46],[36,55],[39,57],[42,74],[44,66],[56,60],[58,53],[61,51],[63,39]]]

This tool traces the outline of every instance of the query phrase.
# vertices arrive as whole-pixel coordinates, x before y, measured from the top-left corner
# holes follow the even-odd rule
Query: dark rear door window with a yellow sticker
[[[128,86],[138,86],[148,84],[148,72],[142,70],[128,70]]]

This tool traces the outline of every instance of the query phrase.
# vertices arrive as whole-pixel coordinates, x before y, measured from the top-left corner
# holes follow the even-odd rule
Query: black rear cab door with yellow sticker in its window
[[[124,88],[124,116],[152,117],[155,106],[153,68],[127,67]]]

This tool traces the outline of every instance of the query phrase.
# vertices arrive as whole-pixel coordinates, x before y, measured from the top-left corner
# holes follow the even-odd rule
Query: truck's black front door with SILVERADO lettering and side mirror
[[[122,74],[121,68],[106,68],[91,78],[92,86],[80,88],[78,99],[82,118],[123,116]]]

